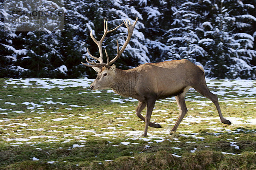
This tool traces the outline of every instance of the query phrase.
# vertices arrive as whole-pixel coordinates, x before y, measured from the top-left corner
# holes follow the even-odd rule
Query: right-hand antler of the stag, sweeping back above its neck
[[[127,21],[128,21],[128,23],[129,23],[129,25],[128,25]],[[127,31],[128,31],[127,39],[125,40],[125,43],[124,43],[124,45],[122,46],[121,50],[119,50],[118,40],[116,40],[116,44],[117,44],[117,55],[116,55],[116,57],[114,57],[114,58],[111,60],[111,62],[109,62],[109,65],[112,65],[112,64],[116,61],[116,59],[118,59],[118,58],[121,56],[122,52],[125,51],[125,48],[126,48],[126,46],[128,45],[128,43],[129,43],[129,41],[130,41],[130,39],[131,39],[131,35],[132,35],[133,31],[134,31],[134,27],[135,27],[135,25],[136,25],[136,23],[137,23],[137,21],[138,21],[138,17],[136,18],[136,20],[135,20],[135,22],[133,23],[133,25],[131,25],[131,23],[130,23],[129,20],[127,20],[127,21],[124,20],[124,24],[125,24],[125,26],[126,26],[126,28],[127,28]]]

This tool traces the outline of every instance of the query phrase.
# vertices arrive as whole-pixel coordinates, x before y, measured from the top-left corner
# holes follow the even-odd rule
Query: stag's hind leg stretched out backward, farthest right
[[[195,90],[198,91],[198,93],[200,93],[203,96],[207,97],[208,99],[210,99],[214,103],[214,105],[217,108],[218,115],[220,116],[220,119],[221,119],[222,123],[227,124],[227,125],[231,124],[231,122],[229,120],[225,119],[222,116],[221,108],[220,108],[220,105],[218,103],[218,96],[209,91],[205,81],[203,83],[201,83],[200,85],[195,86],[193,88],[195,88]]]

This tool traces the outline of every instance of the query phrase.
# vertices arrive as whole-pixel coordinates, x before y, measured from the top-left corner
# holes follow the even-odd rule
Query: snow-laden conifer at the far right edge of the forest
[[[250,59],[255,55],[252,50],[254,39],[250,34],[239,33],[236,29],[238,24],[244,24],[238,23],[238,16],[231,15],[233,9],[229,8],[230,2],[218,2],[219,4],[212,6],[211,11],[215,20],[203,23],[204,37],[199,42],[208,54],[208,61],[205,63],[206,74],[208,77],[221,79],[245,78],[247,75],[253,77],[255,74]],[[246,70],[246,76],[241,74]]]

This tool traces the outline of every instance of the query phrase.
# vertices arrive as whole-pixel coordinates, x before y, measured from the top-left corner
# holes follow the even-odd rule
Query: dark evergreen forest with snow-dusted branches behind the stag
[[[105,18],[113,29],[138,17],[117,68],[188,59],[201,65],[211,79],[256,79],[256,0],[45,0],[63,11],[64,30],[58,19],[32,31],[21,30],[22,22],[6,20],[13,15],[5,8],[7,3],[31,11],[37,1],[0,0],[1,78],[95,78],[96,72],[81,64],[86,56],[93,61],[87,48],[99,56],[90,30],[99,40]],[[38,8],[43,10],[43,4]],[[121,48],[126,37],[123,24],[107,34],[102,48],[113,58],[116,39]]]

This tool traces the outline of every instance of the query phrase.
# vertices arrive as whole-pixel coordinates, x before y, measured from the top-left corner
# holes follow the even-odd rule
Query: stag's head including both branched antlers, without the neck
[[[117,26],[116,28],[108,31],[108,20],[104,20],[103,23],[103,28],[104,28],[104,34],[102,36],[102,38],[97,41],[94,37],[93,37],[93,33],[92,30],[90,30],[90,37],[93,39],[93,41],[96,43],[96,45],[99,48],[99,57],[94,57],[92,54],[90,54],[88,48],[87,48],[87,52],[90,55],[90,57],[92,57],[93,59],[96,59],[97,61],[99,61],[99,63],[96,62],[89,62],[87,60],[87,57],[85,57],[87,63],[89,63],[90,65],[87,65],[83,62],[81,62],[83,65],[86,65],[87,67],[92,67],[95,71],[98,72],[98,75],[95,79],[95,81],[90,85],[90,88],[92,90],[102,90],[102,89],[107,89],[111,87],[111,83],[113,82],[113,78],[115,77],[115,73],[116,73],[116,65],[113,64],[122,54],[122,52],[125,50],[126,46],[128,45],[130,39],[131,39],[131,35],[134,31],[134,27],[136,25],[138,21],[138,17],[136,18],[136,21],[133,23],[133,25],[131,25],[129,20],[124,20],[124,24],[128,30],[128,36],[127,39],[125,40],[124,45],[122,46],[122,48],[119,50],[119,44],[118,44],[118,40],[116,39],[116,44],[117,44],[117,54],[116,57],[114,57],[111,61],[109,61],[109,57],[108,57],[108,53],[105,50],[105,54],[107,57],[107,63],[103,62],[103,53],[102,53],[102,42],[106,37],[106,34],[112,31],[115,31],[117,28],[119,28],[120,26],[122,26],[123,23],[121,23],[119,26]]]

